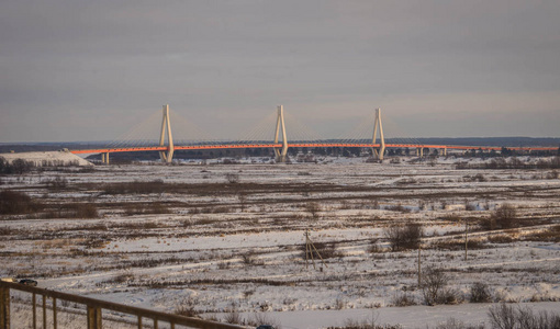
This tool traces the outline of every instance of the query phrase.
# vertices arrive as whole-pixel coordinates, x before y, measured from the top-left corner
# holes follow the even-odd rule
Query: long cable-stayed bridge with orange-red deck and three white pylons
[[[157,124],[161,117],[161,124]],[[327,148],[327,147],[359,147],[371,148],[377,159],[383,160],[387,148],[412,148],[422,157],[425,149],[440,149],[447,155],[448,149],[459,150],[496,150],[502,147],[494,146],[460,146],[460,145],[424,145],[415,138],[393,137],[385,143],[381,110],[376,109],[372,115],[362,120],[346,137],[321,138],[318,134],[294,120],[284,115],[283,106],[278,106],[260,124],[255,125],[246,136],[236,140],[212,139],[208,133],[195,127],[190,122],[173,113],[173,126],[180,131],[171,129],[171,112],[169,105],[164,105],[163,112],[157,111],[143,123],[135,126],[117,140],[107,147],[97,149],[74,149],[72,154],[101,154],[101,160],[109,163],[112,152],[158,151],[160,159],[171,162],[176,150],[209,150],[209,149],[273,149],[277,162],[284,162],[289,148]],[[188,132],[189,135],[184,133]],[[179,138],[173,139],[175,136]],[[273,133],[273,134],[272,134]],[[555,147],[509,147],[512,150],[556,150]]]

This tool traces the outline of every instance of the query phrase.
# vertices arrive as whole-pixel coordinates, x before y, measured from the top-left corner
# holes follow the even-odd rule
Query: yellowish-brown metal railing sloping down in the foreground
[[[102,326],[102,310],[112,310],[119,311],[122,314],[131,315],[137,318],[136,324],[138,329],[143,328],[143,319],[150,319],[153,321],[152,328],[157,329],[159,322],[168,322],[171,329],[175,329],[175,326],[184,326],[189,328],[201,328],[201,329],[243,329],[246,327],[221,324],[215,321],[209,321],[197,318],[189,318],[173,314],[167,314],[107,300],[100,300],[72,294],[66,294],[33,286],[27,286],[19,283],[11,282],[1,282],[0,281],[0,328],[10,329],[10,300],[11,295],[10,291],[21,291],[32,294],[32,314],[33,314],[33,325],[32,328],[37,328],[37,295],[42,297],[42,322],[43,329],[47,328],[47,298],[52,299],[52,311],[53,311],[53,328],[57,328],[57,300],[68,300],[71,303],[77,303],[85,305],[87,308],[87,313],[85,314],[87,318],[88,329],[101,329]]]

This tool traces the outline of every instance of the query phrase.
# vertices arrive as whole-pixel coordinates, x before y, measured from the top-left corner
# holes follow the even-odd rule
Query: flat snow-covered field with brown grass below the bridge
[[[404,160],[144,163],[2,177],[0,189],[24,192],[43,208],[2,215],[0,276],[203,318],[265,315],[282,328],[372,316],[404,328],[448,317],[488,322],[490,304],[469,303],[478,282],[494,303],[560,309],[560,180],[551,170]],[[98,216],[56,216],[83,204]],[[503,204],[520,227],[482,229]],[[467,260],[466,219],[477,241]],[[423,269],[441,269],[459,305],[423,305],[418,251],[390,250],[387,227],[408,220],[424,227]],[[316,256],[305,262],[306,229],[324,263]],[[417,306],[396,307],[403,297]]]

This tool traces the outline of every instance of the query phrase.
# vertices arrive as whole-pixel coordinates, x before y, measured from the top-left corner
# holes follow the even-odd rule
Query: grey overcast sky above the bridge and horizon
[[[279,104],[326,135],[381,107],[389,136],[560,137],[559,18],[558,0],[0,1],[0,141],[112,140],[166,103],[216,137]]]

